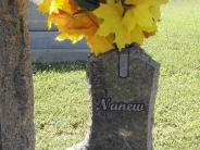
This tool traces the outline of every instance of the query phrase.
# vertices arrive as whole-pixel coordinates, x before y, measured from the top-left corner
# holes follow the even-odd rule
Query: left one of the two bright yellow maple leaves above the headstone
[[[120,50],[122,50],[125,45],[130,43],[128,30],[125,25],[122,24],[123,12],[124,9],[122,3],[115,3],[114,0],[110,0],[105,4],[101,4],[100,8],[93,12],[95,15],[103,18],[103,22],[100,24],[97,35],[108,36],[110,34],[114,34],[114,42],[117,45]]]

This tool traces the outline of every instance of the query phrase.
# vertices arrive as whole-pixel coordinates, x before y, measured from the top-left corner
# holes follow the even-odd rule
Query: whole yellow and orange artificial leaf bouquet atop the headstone
[[[161,18],[160,8],[168,0],[43,0],[38,10],[48,14],[60,32],[57,40],[73,43],[86,39],[91,53],[99,55],[153,36]]]

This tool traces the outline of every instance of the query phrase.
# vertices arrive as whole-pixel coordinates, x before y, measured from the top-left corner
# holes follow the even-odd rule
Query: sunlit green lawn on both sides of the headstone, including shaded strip
[[[143,46],[161,63],[155,150],[200,150],[199,0],[163,8],[159,33]],[[88,120],[85,63],[35,64],[36,150],[64,150],[84,139]]]

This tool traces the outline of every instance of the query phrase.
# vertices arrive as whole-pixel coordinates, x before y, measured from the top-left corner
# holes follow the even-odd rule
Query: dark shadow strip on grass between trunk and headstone
[[[66,63],[33,63],[33,72],[72,72],[86,70],[86,61],[66,62]]]

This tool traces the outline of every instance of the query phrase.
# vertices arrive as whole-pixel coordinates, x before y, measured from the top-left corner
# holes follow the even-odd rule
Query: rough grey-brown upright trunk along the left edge
[[[34,150],[26,0],[0,0],[0,150]]]

